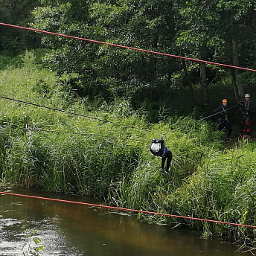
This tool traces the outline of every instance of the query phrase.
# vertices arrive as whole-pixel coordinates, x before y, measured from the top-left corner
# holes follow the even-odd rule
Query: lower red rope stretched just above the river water
[[[76,201],[54,199],[54,198],[42,197],[42,196],[23,195],[21,193],[10,193],[10,192],[0,192],[0,194],[9,195],[9,196],[22,196],[22,197],[27,197],[27,198],[42,199],[42,200],[48,200],[48,201],[54,201],[54,202],[68,202],[68,203],[73,203],[73,204],[77,204],[77,205],[88,205],[88,206],[94,206],[94,207],[98,207],[98,208],[108,208],[108,209],[117,210],[117,211],[132,211],[132,212],[141,213],[141,214],[153,214],[153,215],[161,215],[161,216],[165,216],[165,217],[180,218],[180,219],[185,219],[185,220],[199,220],[199,221],[205,221],[208,223],[220,223],[220,224],[225,224],[225,225],[237,225],[237,226],[242,226],[242,227],[246,227],[246,228],[256,228],[256,225],[227,223],[224,221],[207,220],[207,219],[201,219],[201,218],[195,218],[195,217],[185,217],[185,216],[179,216],[179,215],[173,215],[173,214],[161,214],[159,212],[153,212],[153,211],[142,211],[142,210],[134,210],[134,209],[128,209],[128,208],[119,208],[119,207],[109,206],[109,205],[97,205],[97,204],[92,204],[89,202],[76,202]]]

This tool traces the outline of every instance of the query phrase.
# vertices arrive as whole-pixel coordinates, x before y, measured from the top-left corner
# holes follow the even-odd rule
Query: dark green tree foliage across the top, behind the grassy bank
[[[256,10],[250,0],[19,0],[15,4],[1,0],[0,11],[2,22],[11,24],[247,68],[255,66]],[[1,26],[1,54],[38,48],[42,36],[41,47],[49,50],[45,61],[74,92],[107,101],[126,97],[134,109],[148,100],[173,109],[178,93],[189,95],[190,109],[195,104],[211,104],[215,100],[211,87],[223,77],[233,85],[233,92],[225,96],[239,100],[246,86],[255,83],[255,74],[250,71],[57,36],[35,36]],[[65,80],[63,74],[68,74]],[[196,95],[198,85],[202,92]]]

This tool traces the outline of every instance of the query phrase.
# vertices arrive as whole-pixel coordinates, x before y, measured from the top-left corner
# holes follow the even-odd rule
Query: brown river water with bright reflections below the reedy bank
[[[0,191],[13,192],[2,187]],[[14,192],[99,203],[59,193]],[[35,229],[37,233],[33,234]],[[26,234],[42,240],[42,256],[247,255],[235,252],[237,247],[223,240],[203,240],[200,233],[149,225],[103,208],[0,194],[0,256],[27,252]]]

